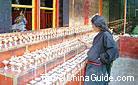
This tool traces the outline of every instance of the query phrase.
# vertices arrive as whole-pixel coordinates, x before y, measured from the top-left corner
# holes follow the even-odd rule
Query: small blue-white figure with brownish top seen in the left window
[[[27,24],[27,20],[24,16],[24,14],[20,13],[20,15],[15,19],[14,21],[14,25],[12,26],[13,30],[19,31],[19,32],[24,32],[26,31],[26,24]]]

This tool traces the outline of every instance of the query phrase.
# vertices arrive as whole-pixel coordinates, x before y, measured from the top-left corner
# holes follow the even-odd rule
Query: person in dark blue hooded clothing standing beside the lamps
[[[91,19],[93,29],[98,32],[88,51],[84,85],[108,85],[112,62],[119,57],[118,48],[104,17],[95,15]],[[89,79],[88,79],[89,78]]]

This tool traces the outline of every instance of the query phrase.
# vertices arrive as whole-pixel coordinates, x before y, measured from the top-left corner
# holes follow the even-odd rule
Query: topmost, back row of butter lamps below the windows
[[[57,30],[49,29],[36,32],[16,33],[7,36],[0,36],[0,50],[18,45],[26,45],[33,42],[50,40],[75,33],[91,31],[89,27],[66,27]]]

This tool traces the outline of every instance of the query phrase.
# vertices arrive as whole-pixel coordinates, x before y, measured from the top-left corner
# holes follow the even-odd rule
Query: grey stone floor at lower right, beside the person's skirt
[[[138,60],[130,58],[118,58],[112,67],[111,76],[117,78],[117,76],[133,76],[134,81],[111,81],[109,85],[138,85]]]

